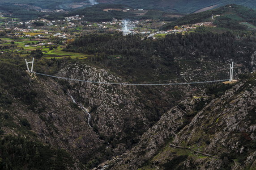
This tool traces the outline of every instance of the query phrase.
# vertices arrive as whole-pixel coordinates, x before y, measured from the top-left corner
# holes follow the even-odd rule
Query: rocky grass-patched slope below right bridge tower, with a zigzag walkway
[[[209,91],[166,112],[112,169],[254,167],[256,75],[230,86],[223,94],[219,92],[219,97],[205,94]]]

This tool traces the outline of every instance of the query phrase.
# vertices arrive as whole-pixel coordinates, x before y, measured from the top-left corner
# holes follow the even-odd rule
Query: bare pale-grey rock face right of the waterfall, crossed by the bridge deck
[[[121,82],[122,80],[103,69],[81,63],[69,65],[59,72],[60,76],[96,82]],[[122,140],[126,131],[148,128],[148,120],[143,112],[143,104],[138,102],[136,87],[69,81],[72,95],[88,108],[90,124],[105,137]],[[139,126],[139,127],[138,127]],[[134,132],[137,133],[137,132]],[[137,135],[137,137],[139,137]]]

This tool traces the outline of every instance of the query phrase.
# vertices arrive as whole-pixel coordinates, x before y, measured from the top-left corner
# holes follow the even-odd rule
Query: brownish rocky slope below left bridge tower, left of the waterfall
[[[39,111],[39,115],[24,114],[38,136],[46,143],[67,149],[77,158],[97,153],[103,141],[88,125],[87,114],[73,105],[58,83],[51,79],[38,80],[32,88],[42,92],[35,100],[43,112]]]

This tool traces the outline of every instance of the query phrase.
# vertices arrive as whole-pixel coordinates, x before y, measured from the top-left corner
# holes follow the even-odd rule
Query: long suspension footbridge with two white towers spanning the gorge
[[[233,81],[233,70],[234,70],[234,62],[230,64],[230,79],[221,79],[221,80],[209,80],[209,81],[201,81],[201,82],[186,82],[186,83],[113,83],[113,82],[98,82],[98,81],[90,81],[90,80],[81,80],[81,79],[71,79],[66,77],[54,76],[54,75],[47,75],[43,73],[38,73],[33,71],[34,66],[34,58],[32,62],[27,62],[25,59],[27,71],[29,73],[34,73],[36,75],[43,75],[47,77],[52,77],[56,79],[66,79],[70,81],[77,81],[77,82],[85,82],[85,83],[95,83],[95,84],[108,84],[108,85],[124,85],[124,86],[168,86],[168,85],[187,85],[187,84],[202,84],[202,83],[216,83],[216,82],[232,82]],[[31,68],[29,67],[31,65]]]

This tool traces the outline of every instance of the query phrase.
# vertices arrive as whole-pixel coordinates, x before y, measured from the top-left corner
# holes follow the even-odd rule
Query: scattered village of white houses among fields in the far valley
[[[137,10],[137,11],[143,11],[143,9],[125,9],[126,11],[129,10]],[[43,11],[41,11],[43,12]],[[45,10],[47,12],[47,10]],[[5,13],[0,12],[0,17],[4,16]],[[87,25],[83,25],[83,22],[81,22],[82,18],[85,16],[71,16],[71,17],[65,17],[62,20],[53,20],[49,21],[47,19],[41,18],[37,20],[30,20],[26,22],[20,22],[20,21],[8,21],[7,24],[2,26],[2,29],[10,29],[10,27],[13,29],[13,31],[16,33],[17,36],[26,36],[26,37],[59,37],[59,38],[68,38],[71,37],[71,32],[66,31],[68,29],[75,30],[79,27],[80,30],[82,29],[92,29],[93,27],[95,29],[109,29],[113,31],[122,31],[127,33],[141,33],[141,34],[147,34],[150,37],[153,37],[156,34],[168,34],[168,33],[181,33],[181,32],[187,32],[196,29],[198,26],[214,26],[213,22],[203,22],[203,23],[196,23],[194,25],[182,25],[182,26],[176,26],[174,29],[170,29],[167,31],[156,31],[156,29],[152,30],[147,29],[147,24],[150,23],[150,20],[145,21],[125,21],[126,25],[124,26],[124,21],[113,19],[112,21],[108,22],[100,22],[100,23],[90,23],[87,21],[83,21],[84,23],[88,23]],[[218,17],[218,16],[214,16]],[[35,27],[35,22],[43,22],[43,26]],[[26,25],[26,27],[21,26],[15,26],[15,25]],[[163,25],[165,23],[159,22],[160,25]],[[14,26],[15,28],[13,28]],[[39,29],[38,29],[39,28]],[[0,28],[1,29],[1,28]],[[54,30],[54,31],[50,31]],[[124,31],[125,30],[125,31]],[[20,33],[22,32],[22,33]],[[79,31],[77,31],[79,32]]]

